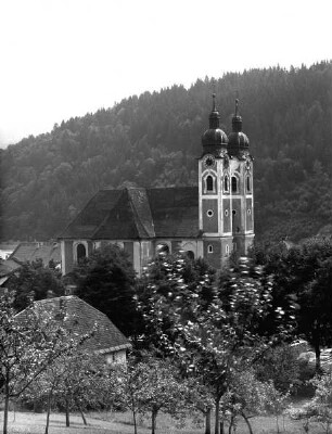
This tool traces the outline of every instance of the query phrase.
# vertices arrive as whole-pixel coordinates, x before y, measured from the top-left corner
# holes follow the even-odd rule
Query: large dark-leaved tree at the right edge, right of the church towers
[[[285,310],[284,302],[295,302],[296,332],[314,346],[319,371],[321,347],[332,343],[332,239],[310,239],[289,250],[282,244],[265,253],[256,250],[254,256],[272,277],[278,304]]]

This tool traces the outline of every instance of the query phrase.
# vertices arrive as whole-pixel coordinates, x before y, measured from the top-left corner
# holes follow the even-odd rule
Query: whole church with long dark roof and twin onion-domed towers
[[[138,275],[161,252],[183,251],[216,269],[233,251],[246,255],[254,239],[253,157],[239,100],[229,135],[215,94],[208,122],[197,187],[100,190],[60,237],[63,275],[110,243],[128,253]]]

